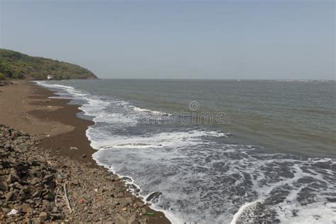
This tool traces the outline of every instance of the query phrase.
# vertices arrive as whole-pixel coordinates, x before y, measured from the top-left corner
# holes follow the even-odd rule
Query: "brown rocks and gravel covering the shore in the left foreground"
[[[5,125],[0,125],[0,207],[4,223],[162,223],[117,175],[52,156],[32,136]]]

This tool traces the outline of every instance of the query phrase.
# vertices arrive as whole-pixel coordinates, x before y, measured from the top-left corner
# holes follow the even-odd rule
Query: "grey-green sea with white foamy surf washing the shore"
[[[96,162],[173,223],[336,223],[335,82],[38,82],[95,122]]]

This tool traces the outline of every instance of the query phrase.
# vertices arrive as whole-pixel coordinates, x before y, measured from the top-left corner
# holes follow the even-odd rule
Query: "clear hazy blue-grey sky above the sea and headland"
[[[335,1],[0,0],[0,47],[100,78],[335,79]]]

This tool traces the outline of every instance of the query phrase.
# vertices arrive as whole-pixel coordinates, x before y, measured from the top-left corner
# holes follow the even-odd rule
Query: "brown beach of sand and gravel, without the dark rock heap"
[[[60,206],[63,216],[52,219],[53,216],[49,215],[46,220],[170,223],[163,213],[153,211],[130,194],[121,178],[98,166],[92,159],[95,150],[85,133],[88,126],[94,123],[77,117],[77,113],[81,112],[78,106],[69,105],[67,99],[49,99],[50,96],[55,94],[28,81],[0,86],[0,124],[28,133],[36,142],[34,149],[22,152],[25,154],[22,156],[31,157],[32,152],[34,155],[40,154],[50,167],[67,174],[65,183],[73,211],[70,213],[66,205]],[[8,203],[6,209],[3,205],[0,217],[11,220],[6,212],[13,205],[16,204]],[[36,208],[40,209],[35,207],[36,211]],[[21,210],[18,211],[19,214],[11,221],[44,219],[34,216],[34,213],[30,217],[28,213],[21,214]]]

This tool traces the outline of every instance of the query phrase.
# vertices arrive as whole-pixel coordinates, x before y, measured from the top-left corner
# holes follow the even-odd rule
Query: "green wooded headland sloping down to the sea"
[[[88,69],[0,48],[0,79],[96,79]]]

